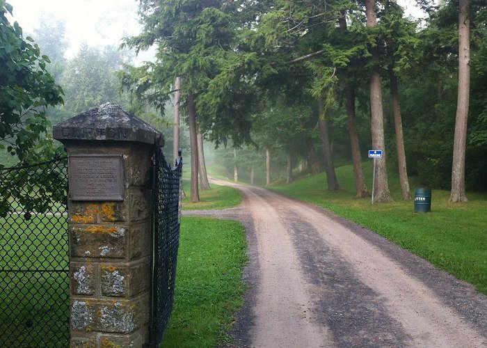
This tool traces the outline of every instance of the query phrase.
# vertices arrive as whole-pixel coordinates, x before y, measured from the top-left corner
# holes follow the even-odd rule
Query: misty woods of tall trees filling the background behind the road
[[[70,60],[63,57],[63,23],[45,19],[33,37],[50,58],[38,59],[52,63],[36,66],[62,86],[64,105],[48,106],[60,95],[36,107],[58,122],[119,102],[167,127],[179,122],[180,106],[189,124],[193,201],[198,177],[207,187],[201,139],[226,146],[219,159],[250,182],[259,170],[267,184],[281,171],[291,182],[293,169],[324,170],[323,184],[333,191],[340,189],[335,166],[353,162],[357,198],[372,189],[362,173],[365,152],[384,150],[374,201],[392,199],[391,172],[399,175],[404,200],[411,199],[408,176],[417,176],[426,187],[451,189],[450,200],[465,201],[465,189],[487,190],[487,4],[418,0],[417,6],[422,19],[406,17],[394,0],[141,0],[140,35],[126,38],[120,50],[85,45]],[[5,17],[11,8],[2,10]],[[26,52],[19,40],[30,41],[18,25],[6,19],[1,25],[2,35],[16,33],[18,46],[2,48],[1,61],[15,61],[15,52]],[[131,65],[129,49],[152,46],[154,61]],[[27,108],[6,102],[19,83],[3,68],[10,65],[1,66],[7,128],[0,136],[15,154],[22,141],[8,131],[10,115]],[[168,146],[172,139],[177,144],[179,132],[164,133]]]

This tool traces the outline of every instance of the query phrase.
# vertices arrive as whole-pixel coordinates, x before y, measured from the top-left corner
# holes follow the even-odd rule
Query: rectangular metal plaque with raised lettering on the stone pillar
[[[71,155],[70,200],[123,200],[123,155]]]

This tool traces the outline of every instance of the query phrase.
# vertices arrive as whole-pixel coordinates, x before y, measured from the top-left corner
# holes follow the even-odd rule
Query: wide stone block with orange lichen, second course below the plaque
[[[71,256],[74,258],[125,258],[127,226],[70,226]]]

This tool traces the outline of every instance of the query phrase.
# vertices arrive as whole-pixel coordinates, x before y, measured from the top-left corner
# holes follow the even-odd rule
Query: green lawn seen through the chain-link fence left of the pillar
[[[1,218],[0,255],[0,346],[67,347],[65,216]]]

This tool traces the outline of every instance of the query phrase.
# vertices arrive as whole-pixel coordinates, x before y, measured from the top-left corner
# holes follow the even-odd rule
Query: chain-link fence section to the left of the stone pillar
[[[67,158],[0,169],[0,346],[68,347]]]

